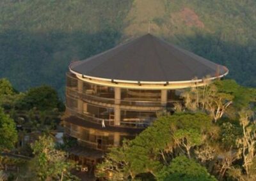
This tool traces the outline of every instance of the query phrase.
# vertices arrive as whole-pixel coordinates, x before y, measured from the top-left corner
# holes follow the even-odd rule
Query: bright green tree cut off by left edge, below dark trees
[[[0,152],[12,149],[17,139],[15,122],[0,108]]]

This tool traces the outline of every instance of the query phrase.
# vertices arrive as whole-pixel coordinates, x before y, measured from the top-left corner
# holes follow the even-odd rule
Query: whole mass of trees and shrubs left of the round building
[[[79,180],[54,132],[65,106],[47,85],[16,91],[0,79],[0,180]]]

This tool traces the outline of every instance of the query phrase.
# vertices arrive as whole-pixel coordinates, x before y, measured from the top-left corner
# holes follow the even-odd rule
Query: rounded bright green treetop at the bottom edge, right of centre
[[[214,181],[216,178],[211,176],[204,166],[196,163],[193,159],[185,156],[175,157],[169,166],[164,168],[163,178],[159,180],[166,181]],[[164,177],[165,176],[165,177]]]

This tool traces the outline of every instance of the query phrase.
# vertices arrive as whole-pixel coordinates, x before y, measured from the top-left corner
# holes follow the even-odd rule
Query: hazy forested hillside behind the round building
[[[0,77],[19,91],[48,84],[64,95],[71,61],[155,34],[230,69],[256,87],[254,0],[1,0]]]

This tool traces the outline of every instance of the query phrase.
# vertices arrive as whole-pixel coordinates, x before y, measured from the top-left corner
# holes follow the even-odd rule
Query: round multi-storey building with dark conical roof
[[[85,61],[67,73],[65,133],[77,140],[71,150],[93,168],[109,147],[119,146],[173,112],[188,87],[227,75],[225,66],[147,34]],[[207,80],[207,81],[205,81]]]

